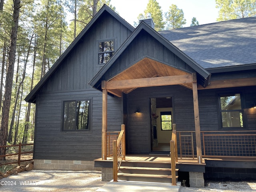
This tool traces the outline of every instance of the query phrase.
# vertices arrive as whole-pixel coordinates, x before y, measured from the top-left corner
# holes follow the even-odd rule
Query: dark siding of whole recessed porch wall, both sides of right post
[[[240,92],[244,100],[244,128],[256,130],[256,110],[252,104],[256,99],[256,87],[242,87],[215,90],[198,90],[198,103],[201,131],[223,131],[218,119],[218,93]],[[177,131],[194,131],[194,108],[192,90],[183,86],[162,86],[137,88],[127,95],[128,100],[128,153],[150,152],[150,100],[154,97],[172,97],[173,123]],[[140,114],[134,113],[140,108]],[[229,129],[230,130],[230,129]],[[225,130],[225,131],[229,131]],[[233,130],[233,129],[232,129]],[[195,142],[194,142],[195,143]],[[196,148],[196,147],[194,147]]]

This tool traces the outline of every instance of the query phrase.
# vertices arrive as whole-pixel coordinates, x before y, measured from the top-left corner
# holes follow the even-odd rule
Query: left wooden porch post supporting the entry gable
[[[106,141],[106,131],[107,131],[107,110],[108,110],[108,90],[106,89],[106,81],[102,81],[102,160],[107,159],[107,141]]]

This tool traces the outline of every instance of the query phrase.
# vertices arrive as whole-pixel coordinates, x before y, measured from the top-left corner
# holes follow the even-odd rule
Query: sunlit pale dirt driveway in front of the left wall
[[[3,185],[4,184],[4,185]],[[100,171],[32,170],[0,180],[4,192],[94,192],[106,182]]]

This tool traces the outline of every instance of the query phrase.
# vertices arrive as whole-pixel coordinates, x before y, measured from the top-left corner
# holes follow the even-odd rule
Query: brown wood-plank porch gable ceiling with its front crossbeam
[[[138,87],[180,84],[192,89],[188,72],[162,64],[150,58],[143,58],[136,64],[108,80],[108,92],[121,96]]]

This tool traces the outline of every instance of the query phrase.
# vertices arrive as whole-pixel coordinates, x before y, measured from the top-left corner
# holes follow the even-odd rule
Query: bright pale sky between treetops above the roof
[[[144,14],[149,0],[111,0],[110,4],[116,7],[116,11],[132,26],[134,21],[138,22],[138,15]],[[183,27],[188,27],[191,24],[193,17],[198,20],[199,24],[207,24],[216,22],[218,17],[218,9],[215,8],[215,0],[156,0],[161,6],[164,13],[169,10],[172,4],[175,4],[184,12],[186,24]]]

